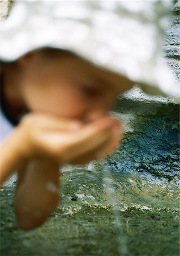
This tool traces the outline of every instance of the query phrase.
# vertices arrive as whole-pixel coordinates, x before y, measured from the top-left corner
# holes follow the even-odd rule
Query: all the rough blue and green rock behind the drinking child
[[[178,8],[165,54],[179,77]],[[64,168],[62,203],[41,228],[18,229],[14,187],[2,188],[1,255],[179,255],[179,106],[139,92],[119,97],[112,114],[126,125],[122,147]]]

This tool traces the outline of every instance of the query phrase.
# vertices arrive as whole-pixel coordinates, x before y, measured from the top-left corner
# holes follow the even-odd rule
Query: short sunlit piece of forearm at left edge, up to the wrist
[[[1,144],[0,184],[25,161],[22,156],[22,138],[15,129]]]

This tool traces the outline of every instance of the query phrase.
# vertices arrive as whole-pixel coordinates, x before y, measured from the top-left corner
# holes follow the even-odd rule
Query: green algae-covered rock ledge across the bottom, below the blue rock
[[[74,170],[62,175],[62,203],[41,227],[19,230],[12,193],[1,198],[1,255],[178,255],[177,191],[148,184],[134,174],[113,172],[121,228],[114,228],[102,171]],[[120,239],[119,239],[120,238]],[[143,253],[143,254],[142,254]]]

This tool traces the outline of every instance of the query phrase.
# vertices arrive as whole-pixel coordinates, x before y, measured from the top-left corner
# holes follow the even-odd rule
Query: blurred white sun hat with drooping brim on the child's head
[[[51,46],[74,51],[138,82],[178,95],[162,57],[172,1],[17,1],[1,24],[1,59]]]

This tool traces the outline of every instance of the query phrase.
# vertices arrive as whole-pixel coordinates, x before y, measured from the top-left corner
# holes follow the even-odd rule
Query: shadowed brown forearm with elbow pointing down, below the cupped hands
[[[59,166],[47,159],[32,159],[18,170],[15,212],[20,228],[41,225],[59,203]]]

